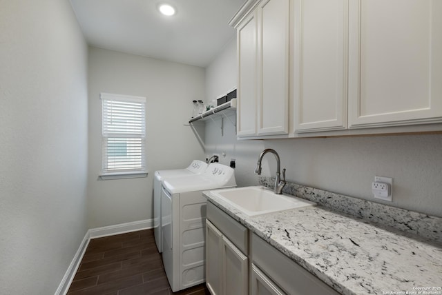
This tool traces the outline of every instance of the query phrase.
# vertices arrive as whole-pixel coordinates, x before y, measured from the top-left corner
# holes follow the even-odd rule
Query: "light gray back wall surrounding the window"
[[[145,96],[146,165],[140,179],[100,181],[102,101],[100,92]],[[184,168],[204,159],[189,122],[193,99],[204,99],[204,69],[111,50],[89,50],[90,228],[153,218],[155,170]]]

